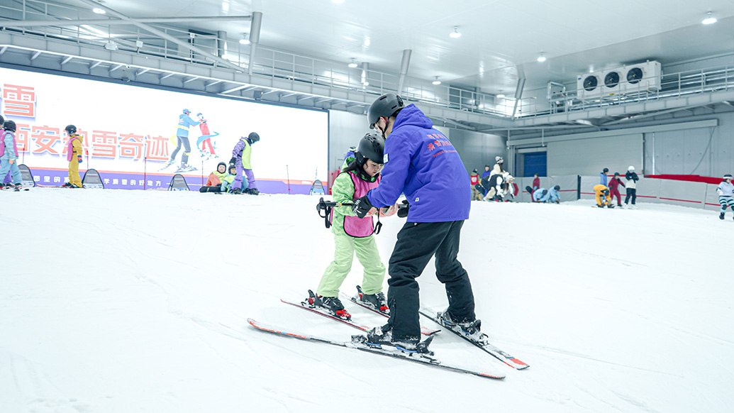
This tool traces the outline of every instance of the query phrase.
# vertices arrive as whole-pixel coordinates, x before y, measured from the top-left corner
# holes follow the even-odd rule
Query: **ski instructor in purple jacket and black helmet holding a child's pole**
[[[440,314],[447,326],[479,332],[469,276],[457,260],[459,235],[469,218],[471,188],[466,168],[454,146],[414,104],[387,93],[368,110],[368,123],[385,137],[385,167],[377,188],[355,200],[355,215],[373,206],[393,205],[401,193],[409,202],[407,223],[398,233],[388,273],[388,324],[373,328],[369,342],[420,349],[418,281],[436,256],[436,276],[446,287],[448,309]],[[404,216],[404,215],[403,215]]]

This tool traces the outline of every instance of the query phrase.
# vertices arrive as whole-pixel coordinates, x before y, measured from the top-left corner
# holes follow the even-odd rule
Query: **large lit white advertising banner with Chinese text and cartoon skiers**
[[[327,181],[324,111],[0,68],[0,115],[17,124],[20,162],[41,186],[68,182],[67,125],[83,137],[79,173],[94,168],[106,188],[165,188],[181,173],[196,190],[250,132],[260,192]]]

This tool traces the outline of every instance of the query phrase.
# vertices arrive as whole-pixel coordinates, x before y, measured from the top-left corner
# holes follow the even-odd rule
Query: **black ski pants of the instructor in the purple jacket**
[[[474,295],[469,275],[457,259],[463,220],[406,223],[398,232],[388,273],[388,306],[393,340],[419,340],[418,276],[436,256],[436,277],[446,287],[448,313],[457,322],[473,321]]]

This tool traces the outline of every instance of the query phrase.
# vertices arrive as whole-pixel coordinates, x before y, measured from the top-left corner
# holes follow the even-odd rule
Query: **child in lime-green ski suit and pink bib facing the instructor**
[[[355,161],[341,170],[334,180],[332,195],[335,202],[351,203],[377,187],[384,148],[382,137],[375,133],[366,134],[360,140],[355,152]],[[349,320],[351,316],[339,300],[339,287],[352,270],[352,259],[355,254],[364,267],[360,299],[380,312],[388,312],[388,301],[382,292],[385,265],[382,265],[379,258],[372,226],[371,215],[374,215],[377,209],[373,208],[370,212],[365,218],[357,218],[352,212],[352,206],[334,207],[331,222],[336,247],[334,261],[321,276],[316,295],[309,290],[308,304],[321,306],[344,320]],[[387,215],[390,214],[383,216]]]

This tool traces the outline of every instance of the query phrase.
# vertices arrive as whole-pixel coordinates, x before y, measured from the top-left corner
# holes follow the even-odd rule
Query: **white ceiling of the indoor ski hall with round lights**
[[[75,0],[62,4],[88,8]],[[263,12],[262,46],[409,76],[512,94],[570,82],[590,68],[658,60],[663,65],[734,51],[734,0],[106,0],[131,18]],[[225,11],[225,9],[227,9]],[[700,22],[711,10],[713,25]],[[448,36],[459,26],[462,37]],[[250,22],[175,24],[237,40]],[[365,40],[368,39],[368,46]],[[543,51],[548,60],[537,62]]]

